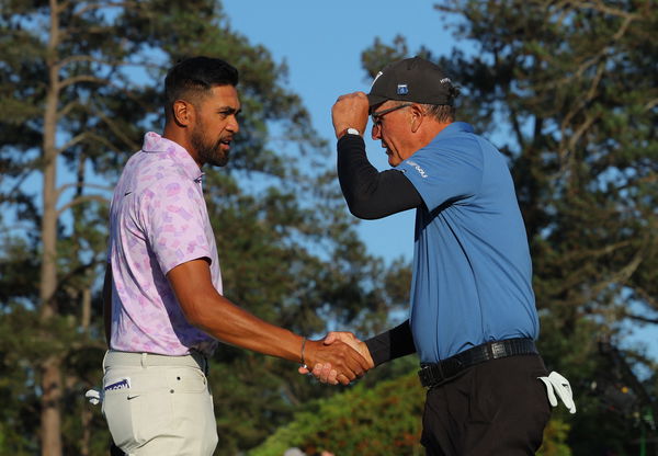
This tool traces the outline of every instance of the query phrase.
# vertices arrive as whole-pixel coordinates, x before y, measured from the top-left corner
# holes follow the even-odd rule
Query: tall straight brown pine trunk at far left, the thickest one
[[[47,331],[49,320],[57,315],[55,290],[57,288],[57,102],[59,75],[57,69],[57,44],[59,21],[56,0],[50,0],[50,36],[46,61],[49,84],[44,112],[44,181],[42,218],[42,266],[41,266],[41,318]],[[46,334],[44,334],[47,337]],[[55,341],[52,341],[55,342]],[[61,372],[59,356],[53,354],[43,362],[41,437],[43,456],[61,456]]]

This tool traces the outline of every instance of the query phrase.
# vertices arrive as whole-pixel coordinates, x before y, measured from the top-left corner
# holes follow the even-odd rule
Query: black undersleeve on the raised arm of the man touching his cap
[[[338,140],[338,180],[350,212],[359,218],[382,218],[422,204],[400,171],[379,172],[371,164],[365,142],[358,135],[343,135]]]

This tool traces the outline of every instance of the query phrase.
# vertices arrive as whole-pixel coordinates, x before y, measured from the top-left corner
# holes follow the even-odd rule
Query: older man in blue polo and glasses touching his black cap
[[[372,367],[418,353],[428,455],[534,455],[551,407],[525,228],[504,157],[455,122],[457,94],[415,57],[333,105],[350,210],[374,219],[416,208],[416,233],[409,320],[365,342],[336,332],[326,343],[352,341]],[[367,160],[368,113],[390,170]],[[314,374],[336,383],[330,368]]]

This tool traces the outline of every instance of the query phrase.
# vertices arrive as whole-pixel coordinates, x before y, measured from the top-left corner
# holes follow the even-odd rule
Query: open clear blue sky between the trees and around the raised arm
[[[231,29],[270,49],[274,60],[287,62],[290,89],[302,96],[315,128],[330,140],[332,150],[331,105],[340,94],[368,91],[361,53],[375,37],[390,44],[400,34],[410,53],[424,45],[435,55],[447,54],[455,44],[432,5],[415,0],[224,1]],[[378,141],[367,137],[366,150],[375,167],[388,168]],[[359,232],[371,253],[386,260],[411,259],[413,212],[362,221]]]

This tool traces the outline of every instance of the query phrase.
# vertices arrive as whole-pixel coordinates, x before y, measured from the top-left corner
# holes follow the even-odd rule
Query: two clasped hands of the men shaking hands
[[[365,342],[353,333],[329,332],[319,341],[305,341],[299,374],[313,374],[324,384],[349,385],[375,367]]]

